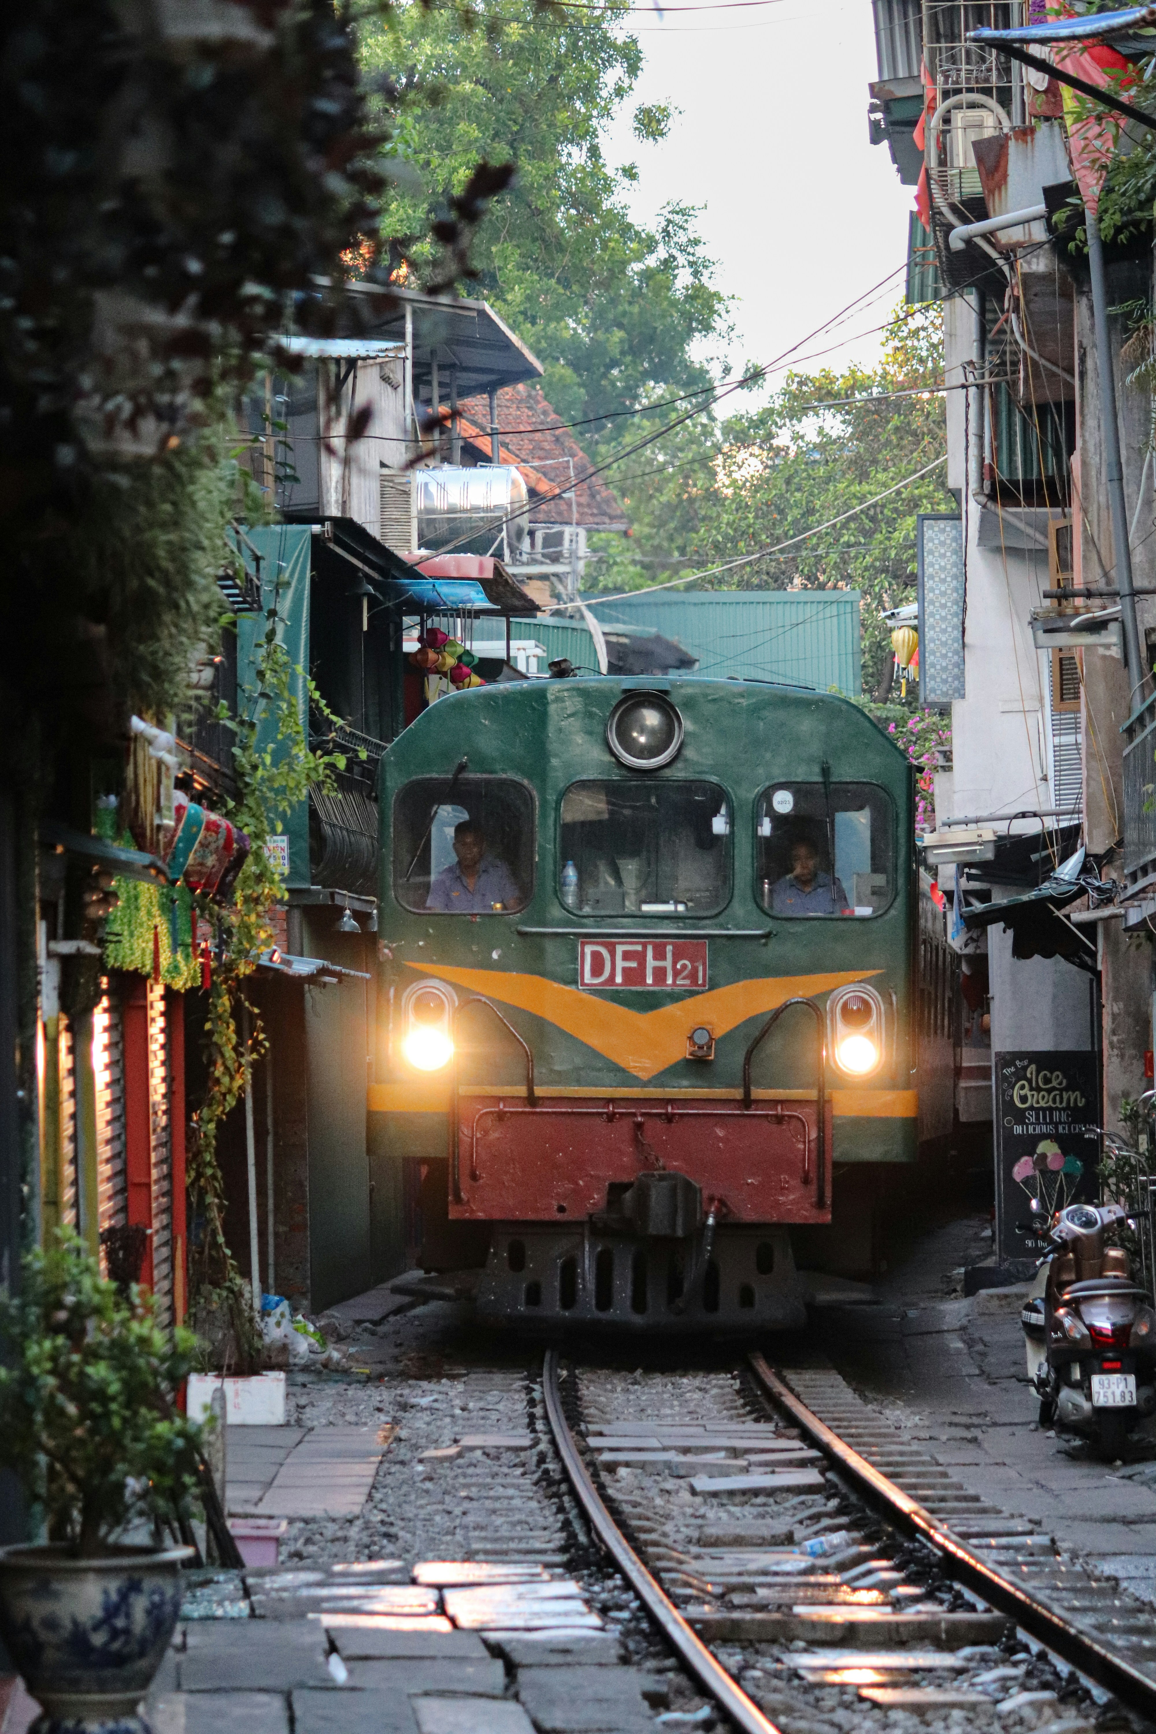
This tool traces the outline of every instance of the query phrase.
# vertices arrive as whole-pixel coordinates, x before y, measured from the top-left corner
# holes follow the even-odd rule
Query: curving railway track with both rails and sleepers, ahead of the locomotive
[[[551,1349],[542,1398],[591,1531],[744,1734],[870,1706],[951,1729],[1156,1722],[1151,1609],[931,1465],[837,1373],[757,1354],[624,1373]]]

